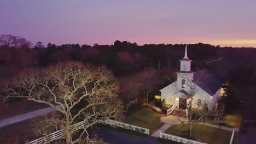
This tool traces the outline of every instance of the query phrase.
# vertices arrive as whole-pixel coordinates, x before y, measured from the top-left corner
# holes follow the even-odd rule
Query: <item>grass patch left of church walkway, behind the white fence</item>
[[[122,122],[133,124],[139,127],[150,129],[150,134],[158,130],[162,123],[158,121],[158,117],[162,116],[159,113],[156,113],[152,109],[140,109],[131,115],[125,117]]]

